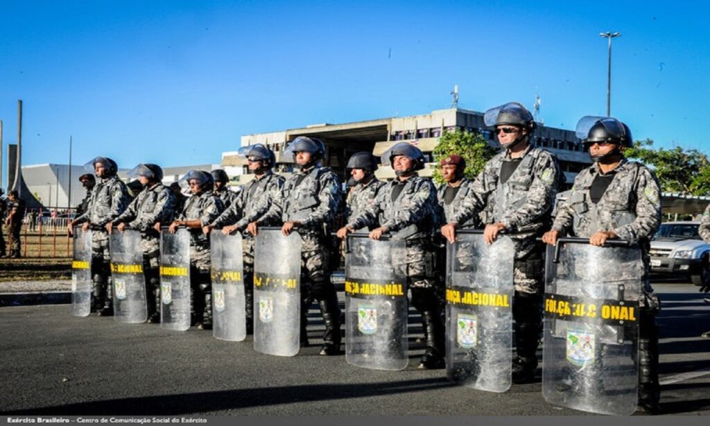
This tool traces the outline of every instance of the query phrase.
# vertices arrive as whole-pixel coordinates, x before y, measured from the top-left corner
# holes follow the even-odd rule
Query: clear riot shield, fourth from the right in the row
[[[263,227],[254,246],[254,350],[294,356],[300,337],[301,237]]]

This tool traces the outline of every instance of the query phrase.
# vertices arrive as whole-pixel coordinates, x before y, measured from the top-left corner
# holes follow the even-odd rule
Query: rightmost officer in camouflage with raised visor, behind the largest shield
[[[624,157],[624,149],[633,146],[626,124],[610,117],[587,116],[579,121],[577,131],[578,135],[586,134],[582,143],[594,164],[574,179],[572,194],[559,206],[552,230],[542,239],[555,245],[560,234],[569,232],[589,238],[589,244],[594,246],[603,246],[608,239],[623,239],[640,246],[644,288],[639,317],[639,408],[647,413],[658,413],[660,385],[655,314],[660,303],[648,280],[648,251],[650,239],[661,222],[660,185],[645,165]]]

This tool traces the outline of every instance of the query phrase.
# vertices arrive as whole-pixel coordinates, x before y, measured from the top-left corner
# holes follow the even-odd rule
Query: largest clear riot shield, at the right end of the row
[[[638,402],[640,249],[560,239],[547,248],[542,394],[555,405],[630,415]],[[559,256],[559,263],[556,257]]]

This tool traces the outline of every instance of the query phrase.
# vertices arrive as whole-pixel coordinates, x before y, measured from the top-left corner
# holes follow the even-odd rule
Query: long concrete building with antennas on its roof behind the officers
[[[441,109],[417,116],[345,124],[314,124],[299,129],[251,134],[241,137],[241,146],[254,143],[270,146],[276,153],[277,169],[281,173],[288,173],[293,170],[292,159],[281,155],[288,142],[297,136],[315,136],[327,147],[324,164],[333,168],[344,179],[347,177],[345,165],[350,155],[358,151],[371,151],[379,156],[395,143],[408,141],[416,143],[427,155],[427,167],[420,175],[430,176],[431,166],[435,164],[432,151],[439,143],[439,136],[444,131],[454,129],[479,133],[491,146],[498,146],[491,129],[484,124],[484,114],[467,109]],[[535,144],[557,155],[568,187],[574,182],[574,176],[591,164],[589,155],[577,141],[574,131],[570,130],[540,125],[535,131]],[[243,169],[244,174],[237,178],[240,185],[251,180],[252,175],[246,171],[246,161],[239,158],[236,152],[223,153],[222,166]],[[376,174],[378,178],[386,179],[395,176],[391,168],[380,168]]]

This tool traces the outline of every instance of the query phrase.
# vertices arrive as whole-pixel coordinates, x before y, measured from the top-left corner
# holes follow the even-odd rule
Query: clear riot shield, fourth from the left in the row
[[[244,271],[241,234],[209,236],[212,256],[212,335],[220,340],[241,342],[246,338]]]

